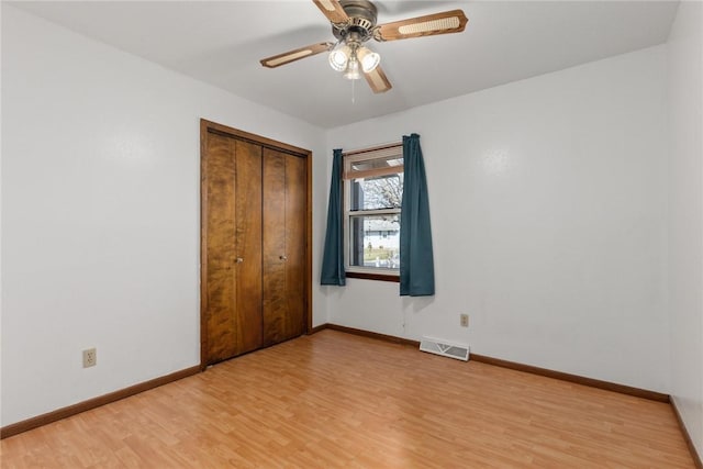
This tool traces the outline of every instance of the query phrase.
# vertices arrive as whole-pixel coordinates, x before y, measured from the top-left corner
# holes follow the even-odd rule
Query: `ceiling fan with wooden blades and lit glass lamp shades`
[[[337,42],[311,44],[261,60],[261,65],[276,68],[301,58],[330,52],[330,65],[344,77],[356,80],[364,75],[375,93],[392,88],[379,66],[381,57],[365,43],[371,38],[384,42],[437,34],[460,33],[469,21],[464,11],[451,10],[425,16],[376,24],[377,9],[368,0],[313,0],[332,23]]]

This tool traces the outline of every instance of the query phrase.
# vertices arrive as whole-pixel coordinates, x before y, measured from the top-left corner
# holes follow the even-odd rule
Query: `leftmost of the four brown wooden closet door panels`
[[[236,353],[235,334],[235,164],[231,139],[208,138],[207,356],[219,361]]]

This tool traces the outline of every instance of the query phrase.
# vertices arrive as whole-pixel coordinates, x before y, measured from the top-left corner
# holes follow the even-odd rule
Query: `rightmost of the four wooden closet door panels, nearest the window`
[[[287,316],[286,338],[298,337],[305,330],[305,263],[308,242],[308,161],[286,156],[286,261]]]

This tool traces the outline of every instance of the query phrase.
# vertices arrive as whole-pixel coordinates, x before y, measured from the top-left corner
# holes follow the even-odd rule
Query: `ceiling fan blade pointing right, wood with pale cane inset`
[[[395,41],[436,34],[460,33],[468,22],[469,19],[466,18],[464,11],[451,10],[381,24],[373,32],[373,37],[377,41]]]

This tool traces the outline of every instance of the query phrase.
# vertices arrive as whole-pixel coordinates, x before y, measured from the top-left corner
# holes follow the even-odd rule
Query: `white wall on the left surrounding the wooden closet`
[[[4,2],[2,118],[0,425],[199,364],[200,118],[315,153],[322,243],[324,131]]]

